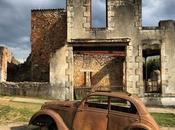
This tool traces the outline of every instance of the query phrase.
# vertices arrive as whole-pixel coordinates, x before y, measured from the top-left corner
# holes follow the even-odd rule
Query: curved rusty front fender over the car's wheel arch
[[[54,112],[53,110],[48,110],[48,109],[40,110],[39,112],[35,113],[31,117],[29,121],[29,125],[31,125],[37,117],[42,115],[50,116],[55,121],[57,128],[59,130],[69,130],[66,124],[64,123],[63,119],[61,118],[61,116],[58,113]]]

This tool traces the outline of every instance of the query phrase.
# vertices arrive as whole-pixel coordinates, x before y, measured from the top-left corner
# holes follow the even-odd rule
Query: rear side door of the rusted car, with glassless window
[[[108,130],[127,130],[134,122],[139,121],[136,107],[122,98],[111,97],[108,114]]]

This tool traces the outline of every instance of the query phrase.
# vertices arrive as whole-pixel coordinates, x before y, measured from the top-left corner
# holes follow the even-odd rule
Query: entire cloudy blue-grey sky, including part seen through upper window
[[[31,9],[65,8],[66,0],[0,0],[0,45],[11,49],[24,61],[31,51]],[[98,11],[104,6],[99,0],[94,24],[102,25]],[[143,0],[143,25],[156,26],[159,20],[175,19],[175,0]]]

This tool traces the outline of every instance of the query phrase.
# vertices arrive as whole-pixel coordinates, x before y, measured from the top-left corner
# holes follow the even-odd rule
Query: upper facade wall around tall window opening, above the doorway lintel
[[[141,28],[141,0],[107,0],[107,27],[91,27],[91,0],[67,2],[68,42],[72,39],[132,37]]]

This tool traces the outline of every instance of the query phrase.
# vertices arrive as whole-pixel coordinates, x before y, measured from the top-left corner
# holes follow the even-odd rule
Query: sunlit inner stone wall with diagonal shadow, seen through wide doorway
[[[109,54],[74,54],[74,87],[100,86],[121,89],[123,88],[123,63],[124,58]]]

